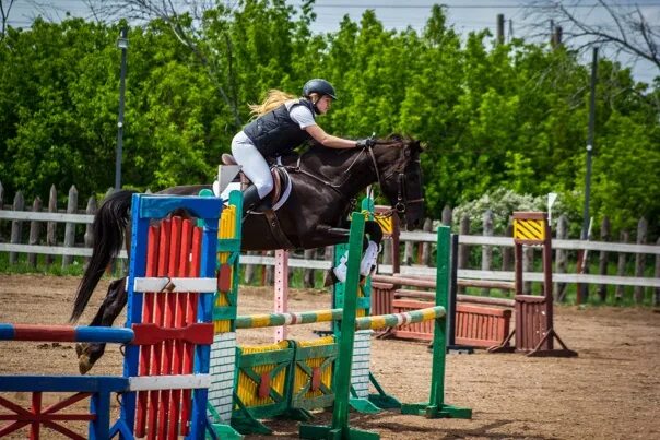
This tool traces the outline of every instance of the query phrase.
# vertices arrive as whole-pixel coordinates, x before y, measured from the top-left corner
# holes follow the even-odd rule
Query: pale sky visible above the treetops
[[[35,15],[42,14],[48,20],[60,20],[66,12],[74,16],[90,17],[87,3],[90,0],[14,0],[10,12],[9,23],[16,27],[28,27]],[[170,0],[175,4],[186,4],[189,0]],[[0,0],[7,4],[8,0]],[[228,3],[236,3],[229,0]],[[288,0],[292,5],[299,5],[302,0]],[[317,14],[313,31],[325,33],[339,28],[339,23],[345,14],[353,21],[358,21],[365,10],[374,10],[378,20],[386,28],[404,29],[412,27],[420,32],[431,15],[433,4],[441,3],[447,7],[448,23],[461,35],[469,32],[490,28],[495,35],[496,16],[504,14],[505,37],[523,37],[530,39],[537,34],[538,26],[546,26],[550,33],[550,21],[535,16],[530,19],[529,9],[532,1],[525,0],[317,0],[314,11]],[[535,1],[537,4],[542,3]],[[550,1],[545,3],[551,3]],[[608,13],[597,0],[563,1],[575,13],[590,24],[610,24]],[[614,8],[638,5],[645,19],[658,25],[660,23],[660,0],[610,0]],[[534,26],[535,25],[535,26]],[[609,49],[601,50],[604,56],[614,57]],[[650,83],[656,75],[660,75],[658,68],[648,61],[634,61],[629,57],[618,56],[622,64],[630,67],[637,81]],[[590,53],[585,56],[585,63],[590,61]]]

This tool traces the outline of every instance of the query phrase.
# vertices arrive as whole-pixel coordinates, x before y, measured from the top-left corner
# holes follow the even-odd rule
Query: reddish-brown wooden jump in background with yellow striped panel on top
[[[503,283],[480,280],[456,280],[455,285],[491,287],[514,290],[512,299],[471,295],[451,297],[455,310],[453,336],[456,344],[487,348],[491,353],[521,352],[528,356],[571,357],[577,353],[567,348],[554,330],[552,294],[552,238],[545,213],[514,213],[515,282]],[[456,249],[457,243],[452,247]],[[523,292],[522,249],[542,251],[543,283],[540,295]],[[456,259],[453,260],[456,261]],[[434,280],[375,275],[372,307],[380,313],[408,312],[428,307],[435,294]],[[414,287],[410,289],[405,287]],[[515,314],[515,329],[509,328]],[[515,337],[515,344],[511,344]],[[422,322],[392,329],[388,337],[431,341],[433,329]],[[554,341],[561,348],[555,348]]]

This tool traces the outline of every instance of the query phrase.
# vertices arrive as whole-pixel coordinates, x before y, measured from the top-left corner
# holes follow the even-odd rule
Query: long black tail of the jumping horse
[[[130,219],[131,199],[135,192],[120,190],[108,195],[94,217],[92,258],[75,293],[71,322],[81,317],[106,267],[121,250],[125,228]]]

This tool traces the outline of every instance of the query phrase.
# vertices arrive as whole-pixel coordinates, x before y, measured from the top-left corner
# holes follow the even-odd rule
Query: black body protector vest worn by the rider
[[[309,133],[302,130],[300,126],[291,118],[290,112],[295,106],[309,108],[313,117],[316,112],[309,100],[298,99],[294,103],[282,104],[243,129],[263,157],[280,156],[311,139]]]

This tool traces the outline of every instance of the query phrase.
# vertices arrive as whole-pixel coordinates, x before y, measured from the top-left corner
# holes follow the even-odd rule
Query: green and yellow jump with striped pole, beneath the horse
[[[240,212],[240,210],[237,210]],[[231,211],[225,211],[232,216]],[[356,404],[351,381],[354,371],[355,335],[361,330],[382,329],[408,323],[436,322],[437,337],[433,358],[432,391],[428,403],[401,405],[398,401],[378,390],[379,394],[367,396],[372,412],[382,407],[398,407],[404,414],[427,417],[471,416],[468,408],[458,408],[444,403],[445,367],[445,310],[449,286],[448,229],[438,234],[438,276],[446,283],[438,283],[437,304],[425,310],[377,317],[356,317],[360,281],[362,237],[364,235],[363,214],[353,214],[349,243],[349,271],[344,284],[343,307],[297,313],[270,313],[236,316],[238,280],[238,250],[232,237],[240,234],[238,218],[221,221],[219,240],[219,295],[213,316],[215,336],[211,355],[212,384],[210,406],[214,414],[213,426],[228,432],[231,427],[241,433],[271,433],[260,419],[288,417],[309,420],[310,411],[333,407],[331,427],[303,425],[304,438],[360,438],[361,433],[347,425],[347,408],[367,407]],[[228,217],[227,217],[228,218]],[[234,225],[234,226],[232,226]],[[225,243],[225,240],[226,243]],[[320,337],[313,341],[284,340],[266,346],[238,346],[236,332],[239,329],[298,325],[313,322],[340,322],[338,336]],[[368,364],[367,364],[368,372]],[[367,378],[368,380],[368,378]],[[368,383],[367,383],[368,385]],[[376,406],[379,405],[379,406]],[[362,433],[361,433],[362,435]],[[228,435],[227,435],[228,436]],[[377,438],[365,432],[364,438]]]

